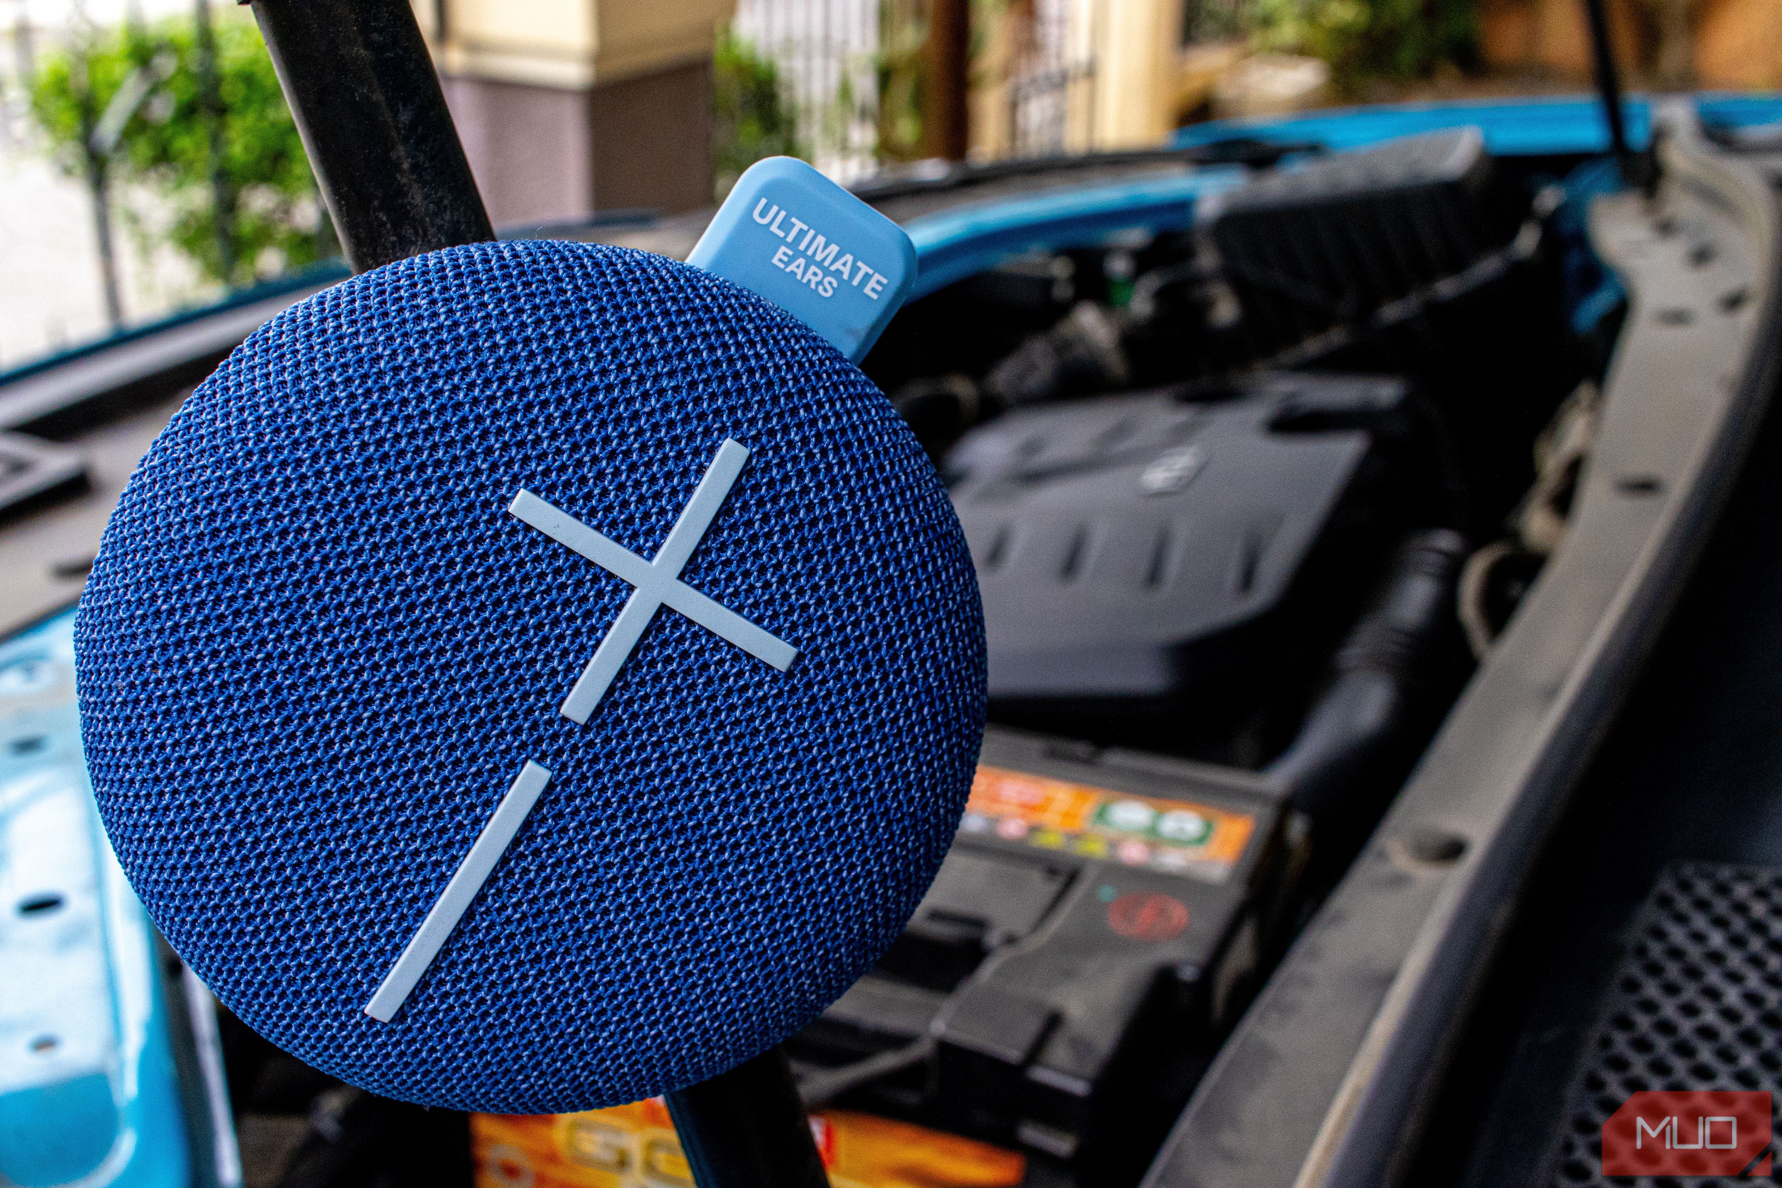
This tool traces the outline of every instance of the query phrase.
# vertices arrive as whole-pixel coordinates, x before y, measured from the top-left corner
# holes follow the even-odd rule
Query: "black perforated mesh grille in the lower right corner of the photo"
[[[1782,1104],[1782,871],[1689,862],[1668,869],[1572,1088],[1554,1188],[1691,1188],[1741,1179],[1602,1176],[1602,1124],[1641,1090],[1771,1090]],[[1771,1120],[1773,1129],[1775,1120]]]

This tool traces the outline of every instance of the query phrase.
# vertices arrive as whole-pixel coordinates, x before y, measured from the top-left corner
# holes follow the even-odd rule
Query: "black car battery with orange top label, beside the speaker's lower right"
[[[791,1040],[805,1083],[855,1067],[862,1108],[1110,1167],[1242,1008],[1283,821],[1247,771],[989,728],[903,935]]]

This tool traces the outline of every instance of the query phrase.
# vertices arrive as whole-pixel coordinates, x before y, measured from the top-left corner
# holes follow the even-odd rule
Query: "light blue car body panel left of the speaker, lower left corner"
[[[184,1188],[155,932],[93,805],[73,620],[0,643],[0,1183]]]

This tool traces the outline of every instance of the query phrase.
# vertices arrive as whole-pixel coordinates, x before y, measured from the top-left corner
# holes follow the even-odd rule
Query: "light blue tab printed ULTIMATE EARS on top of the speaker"
[[[761,294],[855,363],[916,283],[903,228],[795,157],[752,164],[686,262]]]

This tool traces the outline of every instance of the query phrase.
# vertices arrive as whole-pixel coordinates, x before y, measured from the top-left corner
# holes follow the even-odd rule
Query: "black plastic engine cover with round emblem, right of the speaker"
[[[1404,385],[1258,374],[1226,395],[1021,410],[950,454],[1003,711],[1062,702],[1083,734],[1091,702],[1214,709],[1353,609],[1372,554],[1349,529],[1394,470]]]

